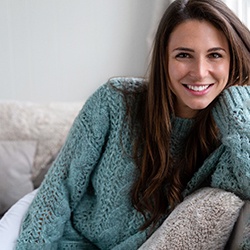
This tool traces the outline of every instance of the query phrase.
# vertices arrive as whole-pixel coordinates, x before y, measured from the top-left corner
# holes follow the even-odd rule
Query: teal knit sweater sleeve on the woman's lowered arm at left
[[[109,128],[107,85],[84,105],[22,224],[18,250],[57,249],[71,211],[85,193]]]

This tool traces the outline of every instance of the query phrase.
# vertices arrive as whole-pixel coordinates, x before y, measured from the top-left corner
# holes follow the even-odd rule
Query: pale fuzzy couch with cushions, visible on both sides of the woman
[[[82,104],[0,103],[1,249],[15,248],[21,221]],[[249,242],[250,202],[207,187],[187,196],[139,250],[249,250]]]

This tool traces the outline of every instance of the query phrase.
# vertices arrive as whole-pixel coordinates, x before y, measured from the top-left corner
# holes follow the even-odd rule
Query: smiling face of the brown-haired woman
[[[228,82],[230,52],[225,35],[206,21],[178,25],[168,43],[170,88],[176,115],[192,118],[206,108]]]

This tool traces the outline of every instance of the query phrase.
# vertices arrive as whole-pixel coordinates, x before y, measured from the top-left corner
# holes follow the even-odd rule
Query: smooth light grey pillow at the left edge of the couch
[[[33,190],[35,141],[0,141],[0,215]]]

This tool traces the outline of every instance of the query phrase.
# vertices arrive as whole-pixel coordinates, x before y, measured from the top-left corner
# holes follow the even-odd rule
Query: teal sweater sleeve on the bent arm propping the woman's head
[[[250,86],[223,91],[213,116],[224,152],[212,175],[211,185],[250,199]]]

